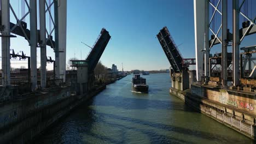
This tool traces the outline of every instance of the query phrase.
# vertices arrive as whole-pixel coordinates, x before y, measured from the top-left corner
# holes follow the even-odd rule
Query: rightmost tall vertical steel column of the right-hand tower
[[[240,85],[239,83],[239,44],[240,44],[240,34],[239,34],[239,0],[233,0],[233,86]]]

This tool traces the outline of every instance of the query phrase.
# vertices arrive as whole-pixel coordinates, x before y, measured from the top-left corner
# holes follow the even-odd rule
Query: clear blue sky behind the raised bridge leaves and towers
[[[123,62],[124,70],[168,69],[170,64],[156,38],[156,34],[164,26],[168,27],[175,43],[182,44],[179,50],[183,57],[195,57],[193,0],[67,0],[67,2],[67,60],[74,56],[80,59],[81,53],[82,59],[85,59],[90,48],[81,41],[92,46],[103,27],[112,36],[100,59],[108,68],[116,64],[121,70]],[[11,0],[11,4],[17,10],[21,5],[17,0]],[[49,19],[48,16],[46,18]],[[13,16],[11,21],[15,22]],[[26,21],[29,22],[29,17]],[[49,28],[48,21],[46,27]],[[249,36],[245,39],[245,43],[255,45],[255,38]],[[30,55],[30,47],[24,38],[11,38],[11,49],[15,49],[16,52],[24,50]],[[211,52],[217,50],[216,48]],[[54,59],[54,52],[49,47],[47,55]],[[38,49],[38,67],[39,59]],[[11,63],[12,67],[18,67],[26,62]],[[48,64],[47,68],[53,69],[53,65]]]

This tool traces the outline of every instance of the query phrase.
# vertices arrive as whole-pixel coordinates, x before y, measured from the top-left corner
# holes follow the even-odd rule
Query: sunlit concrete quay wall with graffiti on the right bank
[[[170,94],[238,133],[255,139],[254,93],[192,84],[191,89],[185,91],[170,88]]]

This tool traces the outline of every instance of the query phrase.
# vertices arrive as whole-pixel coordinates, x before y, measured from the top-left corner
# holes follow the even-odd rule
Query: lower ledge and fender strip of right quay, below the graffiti
[[[188,106],[193,107],[204,115],[224,124],[226,127],[255,140],[255,125],[248,123],[233,114],[236,112],[237,115],[239,112],[244,116],[245,114],[243,114],[242,111],[236,110],[234,107],[219,104],[213,100],[200,97],[199,95],[191,93],[190,89],[187,89],[186,91],[179,91],[175,88],[170,88],[170,94],[182,99]],[[227,110],[232,111],[232,113],[227,112]],[[248,113],[246,114],[248,115]]]

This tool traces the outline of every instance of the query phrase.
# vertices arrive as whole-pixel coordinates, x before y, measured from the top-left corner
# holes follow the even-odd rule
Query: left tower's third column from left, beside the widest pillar
[[[44,89],[46,86],[46,28],[45,28],[45,0],[39,1],[39,22],[40,22],[40,85]]]

